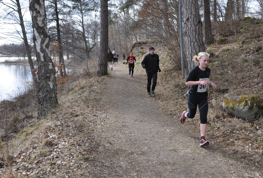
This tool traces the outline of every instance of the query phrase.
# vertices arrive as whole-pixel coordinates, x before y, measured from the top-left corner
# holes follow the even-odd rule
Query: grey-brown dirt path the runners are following
[[[113,171],[101,170],[101,177],[251,175],[248,165],[217,145],[199,147],[200,137],[188,131],[187,123],[182,125],[179,118],[171,118],[160,109],[158,86],[155,97],[147,96],[146,76],[135,71],[131,78],[122,64],[110,73],[99,102],[108,114],[108,127],[101,131],[108,150],[104,150],[107,155],[101,159],[110,162]]]

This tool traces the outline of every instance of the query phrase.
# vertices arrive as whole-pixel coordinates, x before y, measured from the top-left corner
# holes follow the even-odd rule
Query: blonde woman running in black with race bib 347
[[[184,111],[180,122],[183,124],[186,118],[194,118],[199,107],[200,113],[200,146],[209,145],[209,141],[205,139],[205,132],[207,127],[207,112],[208,112],[208,101],[207,101],[207,85],[210,84],[214,89],[217,86],[209,80],[210,69],[207,67],[209,64],[209,54],[206,52],[200,52],[198,56],[194,56],[195,66],[189,73],[186,79],[186,85],[191,86],[188,95],[188,108],[189,112]],[[198,63],[200,63],[198,65]]]

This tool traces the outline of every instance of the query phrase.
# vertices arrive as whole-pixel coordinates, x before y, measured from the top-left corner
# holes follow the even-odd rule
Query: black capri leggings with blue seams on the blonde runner
[[[200,113],[200,123],[207,124],[207,113],[208,113],[208,101],[207,98],[199,99],[198,97],[193,97],[190,93],[188,95],[188,108],[187,113],[188,118],[194,118],[197,110],[197,105],[199,107]]]

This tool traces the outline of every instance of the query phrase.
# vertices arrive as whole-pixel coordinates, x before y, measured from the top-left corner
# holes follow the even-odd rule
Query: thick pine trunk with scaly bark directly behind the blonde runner
[[[183,18],[187,62],[186,71],[189,74],[194,67],[193,56],[199,52],[205,52],[198,0],[183,1]]]

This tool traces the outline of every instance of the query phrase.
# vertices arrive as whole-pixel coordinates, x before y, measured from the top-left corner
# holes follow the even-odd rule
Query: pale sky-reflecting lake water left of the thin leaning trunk
[[[0,63],[0,101],[11,99],[32,82],[29,65]]]

